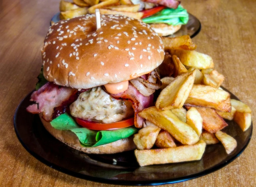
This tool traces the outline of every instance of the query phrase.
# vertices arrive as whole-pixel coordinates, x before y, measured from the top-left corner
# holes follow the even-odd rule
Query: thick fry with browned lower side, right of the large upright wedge
[[[212,86],[195,84],[185,101],[185,106],[203,106],[222,112],[230,112],[230,94]]]

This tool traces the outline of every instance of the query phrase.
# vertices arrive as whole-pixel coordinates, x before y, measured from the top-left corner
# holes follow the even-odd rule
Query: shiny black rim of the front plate
[[[223,90],[225,90],[225,91],[228,91],[226,88],[223,88],[222,86],[221,86],[221,88]],[[249,135],[248,141],[243,146],[243,148],[241,149],[241,151],[238,154],[234,155],[233,157],[231,157],[229,160],[227,160],[224,163],[217,164],[217,165],[213,166],[212,168],[209,168],[209,169],[207,169],[207,170],[205,170],[203,172],[199,172],[199,173],[196,173],[196,174],[188,175],[188,176],[185,176],[185,177],[179,177],[179,178],[171,179],[171,180],[168,180],[168,179],[167,180],[159,180],[159,181],[152,181],[152,180],[149,180],[149,181],[124,181],[124,180],[112,180],[112,179],[105,179],[105,178],[100,178],[100,177],[88,176],[88,175],[76,173],[76,172],[73,172],[73,171],[69,171],[69,170],[67,170],[65,168],[62,168],[61,166],[57,166],[56,164],[52,164],[51,162],[49,162],[46,159],[42,158],[37,153],[31,151],[26,146],[26,144],[21,140],[20,136],[18,135],[17,129],[16,129],[16,115],[17,115],[17,112],[20,109],[20,106],[23,103],[24,99],[26,97],[28,97],[33,91],[31,91],[29,94],[27,94],[22,99],[22,101],[20,102],[20,104],[17,106],[17,108],[15,110],[13,122],[14,122],[15,134],[16,134],[18,140],[20,141],[22,146],[25,148],[25,150],[30,153],[30,155],[32,155],[34,158],[36,158],[37,160],[39,160],[43,164],[46,164],[50,168],[53,168],[53,169],[55,169],[57,171],[65,173],[67,175],[71,175],[73,177],[78,177],[78,178],[81,178],[81,179],[86,179],[86,180],[92,181],[92,182],[105,183],[105,184],[114,184],[114,185],[125,185],[125,186],[131,186],[131,185],[135,185],[135,186],[154,186],[154,185],[164,185],[164,184],[174,184],[174,183],[185,182],[185,181],[188,181],[188,180],[191,180],[191,179],[195,179],[195,178],[199,178],[199,177],[208,175],[210,173],[213,173],[213,172],[215,172],[217,170],[220,170],[221,168],[225,167],[226,165],[228,165],[229,163],[234,161],[236,158],[238,158],[242,154],[242,152],[246,149],[246,147],[248,146],[248,144],[249,144],[249,142],[251,141],[251,138],[252,138],[253,123],[251,124],[251,127],[249,128],[249,129],[251,129],[251,133]],[[238,97],[236,97],[236,98],[238,98]],[[249,129],[247,129],[247,130],[249,130]]]

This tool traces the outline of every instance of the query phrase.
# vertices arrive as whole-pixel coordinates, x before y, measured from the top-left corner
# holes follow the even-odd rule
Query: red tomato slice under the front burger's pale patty
[[[128,126],[134,125],[134,118],[118,121],[116,123],[97,123],[91,120],[83,120],[80,118],[75,118],[75,121],[79,125],[87,129],[97,130],[97,131],[121,129],[121,128],[126,128]]]

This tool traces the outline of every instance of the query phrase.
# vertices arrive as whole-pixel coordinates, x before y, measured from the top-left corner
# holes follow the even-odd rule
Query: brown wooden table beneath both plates
[[[248,104],[255,122],[256,1],[183,0],[200,19],[193,41],[225,75],[223,86]],[[2,0],[0,3],[0,184],[1,186],[111,186],[78,179],[42,164],[18,142],[13,116],[35,88],[40,48],[59,0]],[[255,128],[242,155],[212,174],[166,186],[256,186]]]

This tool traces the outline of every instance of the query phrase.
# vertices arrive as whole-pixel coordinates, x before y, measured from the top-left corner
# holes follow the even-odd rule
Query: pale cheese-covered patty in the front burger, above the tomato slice
[[[74,117],[101,123],[113,123],[134,115],[131,102],[111,97],[101,86],[81,93],[69,108]]]

